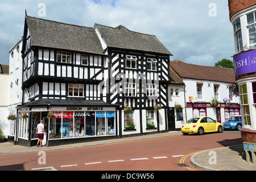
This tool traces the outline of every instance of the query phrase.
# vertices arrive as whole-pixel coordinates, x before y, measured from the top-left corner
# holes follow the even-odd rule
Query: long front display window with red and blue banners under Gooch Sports
[[[49,139],[115,135],[115,111],[59,111],[49,121]]]

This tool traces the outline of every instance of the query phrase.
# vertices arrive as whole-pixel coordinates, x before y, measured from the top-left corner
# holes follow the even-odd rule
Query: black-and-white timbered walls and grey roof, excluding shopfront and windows
[[[31,103],[44,100],[56,102],[55,106],[60,100],[67,101],[67,105],[59,106],[72,106],[74,100],[84,101],[81,106],[92,106],[93,101],[98,101],[114,108],[117,137],[168,131],[172,53],[154,35],[123,26],[95,24],[90,28],[26,15],[22,55],[23,104],[18,109],[31,109],[37,106]],[[126,65],[127,56],[134,58],[134,68]],[[154,69],[148,68],[148,60],[154,61]],[[126,93],[127,83],[136,85],[130,96]],[[70,94],[69,84],[82,85],[82,93]],[[156,86],[154,97],[148,96],[147,84]],[[125,130],[126,104],[133,107],[134,131]],[[155,129],[146,131],[146,111],[154,111],[154,104],[162,109],[155,111]]]

